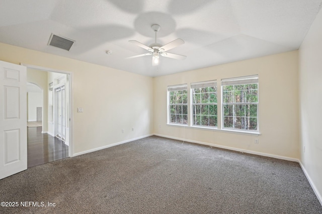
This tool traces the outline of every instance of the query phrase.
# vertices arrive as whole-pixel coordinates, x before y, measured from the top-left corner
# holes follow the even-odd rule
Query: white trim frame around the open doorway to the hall
[[[73,145],[73,92],[72,92],[72,79],[73,79],[73,76],[72,76],[72,72],[69,72],[67,70],[60,70],[60,69],[54,69],[54,68],[49,68],[49,67],[42,67],[42,66],[38,66],[38,65],[32,65],[32,64],[26,64],[26,63],[20,63],[21,65],[23,66],[26,66],[27,69],[28,68],[32,68],[32,69],[37,69],[37,70],[43,70],[44,72],[54,72],[54,73],[60,73],[60,74],[66,74],[68,75],[67,77],[69,78],[68,79],[68,82],[69,82],[69,98],[68,98],[68,101],[69,101],[69,121],[67,120],[66,121],[66,124],[67,122],[69,123],[69,151],[68,151],[68,155],[69,157],[73,157],[73,154],[74,154],[74,145]]]

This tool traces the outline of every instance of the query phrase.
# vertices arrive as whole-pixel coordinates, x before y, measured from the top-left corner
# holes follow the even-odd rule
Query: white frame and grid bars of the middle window
[[[216,103],[194,103],[194,89],[199,89],[200,90],[200,95],[201,94],[205,94],[205,93],[201,93],[201,89],[204,88],[211,88],[214,87],[215,88],[215,95],[216,95]],[[210,97],[210,91],[208,90],[208,101],[209,101],[209,97]],[[215,105],[216,106],[216,115],[210,115],[208,114],[207,116],[209,117],[208,120],[210,120],[210,116],[215,116],[216,117],[216,125],[215,126],[211,126],[209,125],[197,125],[194,124],[194,107],[195,106],[211,106],[211,105]],[[200,114],[201,116],[201,114]],[[196,82],[196,83],[191,83],[190,84],[190,126],[191,127],[198,127],[198,128],[207,128],[207,129],[217,129],[218,128],[218,88],[217,88],[217,80],[212,80],[212,81],[204,81],[204,82]]]

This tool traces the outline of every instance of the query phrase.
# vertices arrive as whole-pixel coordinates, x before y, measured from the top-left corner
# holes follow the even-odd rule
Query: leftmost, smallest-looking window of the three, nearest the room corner
[[[168,123],[188,124],[187,85],[168,87]]]

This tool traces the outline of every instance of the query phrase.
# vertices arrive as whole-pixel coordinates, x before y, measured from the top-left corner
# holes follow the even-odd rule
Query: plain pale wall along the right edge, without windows
[[[322,10],[299,49],[299,87],[300,161],[322,204]]]

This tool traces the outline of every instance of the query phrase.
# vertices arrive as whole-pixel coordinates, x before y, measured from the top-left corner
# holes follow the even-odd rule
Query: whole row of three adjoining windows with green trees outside
[[[168,86],[168,124],[259,133],[258,86],[258,75],[221,79],[219,95],[217,80],[191,83],[189,96],[187,84]]]

